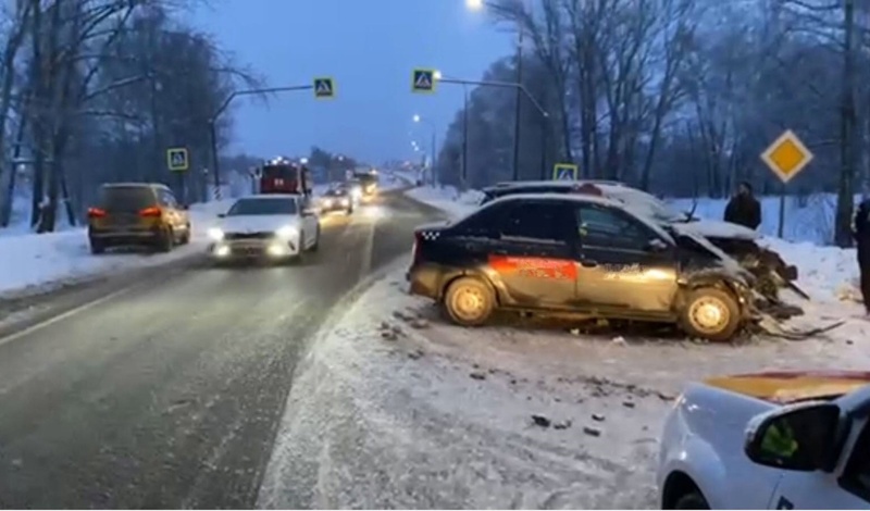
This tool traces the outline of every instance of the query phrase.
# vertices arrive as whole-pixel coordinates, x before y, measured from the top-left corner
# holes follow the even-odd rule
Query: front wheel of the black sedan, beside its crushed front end
[[[741,310],[734,296],[714,287],[688,292],[680,311],[680,326],[692,337],[728,341],[741,326]]]

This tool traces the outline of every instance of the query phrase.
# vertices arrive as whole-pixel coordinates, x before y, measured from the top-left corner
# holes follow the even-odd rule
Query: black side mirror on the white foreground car
[[[781,470],[830,472],[836,465],[840,407],[803,402],[755,416],[744,452],[754,463]]]

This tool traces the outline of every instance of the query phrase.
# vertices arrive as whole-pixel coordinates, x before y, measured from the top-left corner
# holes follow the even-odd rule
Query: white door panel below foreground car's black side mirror
[[[870,509],[870,427],[866,420],[859,431],[842,474],[783,471],[768,508]]]

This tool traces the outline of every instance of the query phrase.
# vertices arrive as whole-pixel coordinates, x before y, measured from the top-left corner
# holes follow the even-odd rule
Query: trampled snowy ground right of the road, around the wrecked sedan
[[[411,197],[473,209],[427,188]],[[689,381],[772,369],[866,369],[870,323],[841,301],[854,253],[766,239],[813,302],[796,326],[825,336],[742,346],[461,328],[405,292],[397,261],[327,324],[299,367],[260,493],[264,508],[657,507],[662,421]],[[796,298],[795,298],[796,299]]]

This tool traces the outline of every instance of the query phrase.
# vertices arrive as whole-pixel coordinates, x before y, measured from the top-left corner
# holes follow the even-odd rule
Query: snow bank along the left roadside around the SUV
[[[0,236],[0,294],[27,291],[47,285],[78,281],[98,274],[133,267],[163,264],[203,251],[209,227],[215,225],[235,199],[194,204],[190,207],[192,238],[190,245],[177,247],[170,253],[111,252],[90,253],[84,228],[58,233],[3,233]]]

